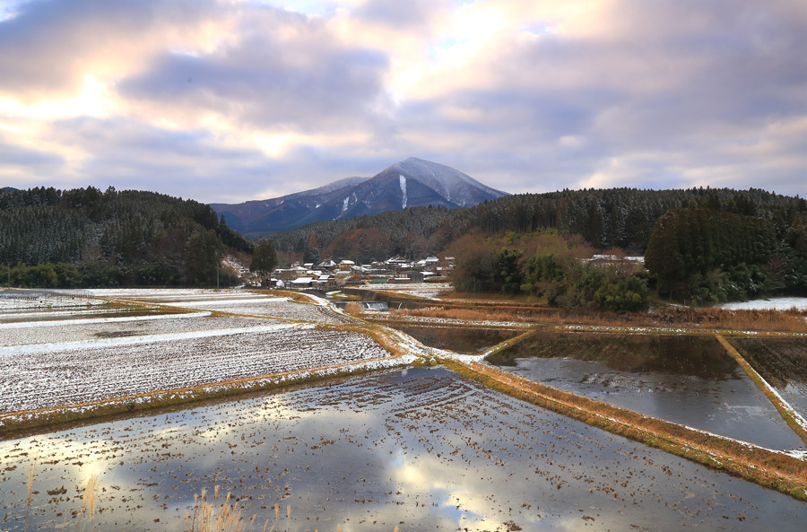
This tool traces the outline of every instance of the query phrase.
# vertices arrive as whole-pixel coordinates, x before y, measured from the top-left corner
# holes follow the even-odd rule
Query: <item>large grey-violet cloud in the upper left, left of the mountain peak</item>
[[[269,13],[261,31],[211,56],[165,53],[149,70],[119,83],[121,94],[147,105],[215,111],[253,126],[316,131],[363,125],[383,103],[386,57],[332,44],[331,36],[291,13]],[[304,33],[275,39],[273,29]]]

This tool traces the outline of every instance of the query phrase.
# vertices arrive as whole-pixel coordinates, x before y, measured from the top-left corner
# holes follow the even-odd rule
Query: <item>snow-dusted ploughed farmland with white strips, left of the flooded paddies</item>
[[[97,292],[136,301],[137,312],[88,314],[108,303],[60,306],[81,298],[52,294],[7,305],[16,319],[0,323],[0,416],[390,357],[369,336],[317,328],[350,320],[321,304],[237,291]],[[272,319],[240,316],[246,307]],[[30,319],[48,308],[52,319]]]

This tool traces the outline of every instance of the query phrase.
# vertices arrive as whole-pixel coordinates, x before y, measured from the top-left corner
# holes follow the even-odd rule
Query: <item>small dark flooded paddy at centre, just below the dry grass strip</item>
[[[496,344],[524,333],[523,330],[486,327],[440,327],[402,323],[390,323],[389,326],[412,336],[421,344],[455,353],[482,353]]]

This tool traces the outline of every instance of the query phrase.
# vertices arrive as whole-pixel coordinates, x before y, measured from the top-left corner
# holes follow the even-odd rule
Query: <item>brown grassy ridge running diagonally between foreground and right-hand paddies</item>
[[[807,461],[577,396],[478,362],[447,368],[557,414],[807,501]]]

